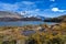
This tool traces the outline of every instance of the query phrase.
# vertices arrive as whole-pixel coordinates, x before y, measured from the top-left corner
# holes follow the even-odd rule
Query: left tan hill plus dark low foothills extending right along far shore
[[[0,21],[42,21],[41,18],[21,15],[18,12],[0,11]]]

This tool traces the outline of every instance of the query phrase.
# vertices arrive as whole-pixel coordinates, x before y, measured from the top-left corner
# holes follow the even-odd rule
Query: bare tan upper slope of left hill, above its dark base
[[[8,11],[0,11],[0,18],[22,18],[19,13],[14,12],[8,12]]]

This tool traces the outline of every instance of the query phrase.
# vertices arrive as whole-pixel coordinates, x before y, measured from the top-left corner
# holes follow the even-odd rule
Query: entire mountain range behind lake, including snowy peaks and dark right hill
[[[31,14],[30,14],[31,15]],[[61,22],[66,21],[66,14],[57,18],[45,18],[42,15],[21,15],[16,12],[0,11],[0,21],[44,21],[44,22]]]

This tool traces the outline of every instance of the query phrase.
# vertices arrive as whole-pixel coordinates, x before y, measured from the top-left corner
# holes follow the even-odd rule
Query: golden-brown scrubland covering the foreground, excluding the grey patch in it
[[[36,33],[25,36],[23,31]],[[66,44],[66,22],[55,25],[0,26],[0,44]]]

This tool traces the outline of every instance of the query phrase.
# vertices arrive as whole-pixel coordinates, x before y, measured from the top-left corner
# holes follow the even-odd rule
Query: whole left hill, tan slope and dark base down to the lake
[[[0,11],[0,21],[18,21],[21,18],[16,12]]]

